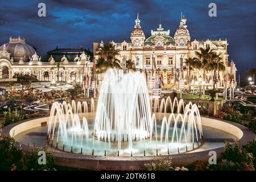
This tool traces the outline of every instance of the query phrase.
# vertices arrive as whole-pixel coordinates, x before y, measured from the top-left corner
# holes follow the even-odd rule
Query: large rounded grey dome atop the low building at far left
[[[5,44],[6,51],[13,57],[14,63],[19,63],[22,58],[24,62],[28,62],[28,58],[34,55],[35,49],[26,44],[25,39],[10,38],[10,42]],[[3,50],[3,46],[0,47],[0,51]]]

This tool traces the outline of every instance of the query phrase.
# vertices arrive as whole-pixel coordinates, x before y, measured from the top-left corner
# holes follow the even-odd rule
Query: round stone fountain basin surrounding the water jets
[[[92,121],[94,115],[94,113],[86,113],[86,118],[88,118],[88,121]],[[6,126],[2,134],[8,137],[14,137],[17,144],[22,145],[23,150],[27,150],[28,144],[32,145],[33,143],[43,146],[47,139],[48,121],[49,117],[20,121]],[[105,156],[105,151],[104,149],[102,150],[101,144],[99,147],[101,150],[95,150],[94,155],[92,155],[91,148],[88,151],[83,148],[84,151],[82,151],[82,154],[79,154],[79,148],[71,152],[71,148],[64,148],[63,150],[63,146],[59,145],[54,153],[55,162],[59,166],[75,168],[137,170],[144,169],[144,164],[150,163],[159,156],[166,156],[166,158],[172,158],[173,166],[188,166],[197,160],[208,161],[210,157],[209,151],[212,150],[216,151],[217,156],[220,156],[224,150],[225,140],[233,144],[236,140],[239,140],[242,146],[256,138],[255,134],[247,129],[247,127],[237,123],[208,117],[201,117],[201,123],[204,130],[204,142],[195,148],[195,150],[183,151],[183,153],[179,154],[175,149],[174,151],[169,151],[171,155],[168,155],[168,151],[166,150],[159,150],[158,155],[156,155],[155,150],[146,150],[144,156],[143,145],[138,144],[136,146],[135,143],[133,156],[131,156],[130,151],[122,151],[122,155],[120,153],[120,156],[117,157],[117,153],[113,152],[112,154],[111,151],[106,151],[109,154]],[[104,141],[100,141],[100,143],[105,144]],[[161,148],[160,142],[158,144],[158,147]],[[195,143],[195,146],[197,146],[197,143]],[[188,147],[191,148],[189,145]],[[150,146],[146,148],[148,149]],[[185,150],[184,146],[180,150],[182,148]]]

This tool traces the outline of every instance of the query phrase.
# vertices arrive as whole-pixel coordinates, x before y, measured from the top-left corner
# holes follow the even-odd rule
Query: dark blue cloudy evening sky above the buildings
[[[40,2],[46,3],[45,18],[38,16]],[[208,16],[211,2],[217,5],[217,17]],[[256,66],[255,5],[253,0],[1,0],[0,43],[9,42],[10,36],[21,36],[43,56],[56,46],[92,49],[93,42],[101,39],[130,41],[137,12],[146,36],[158,27],[159,16],[162,26],[174,36],[182,11],[192,40],[228,39],[229,59],[243,74]]]

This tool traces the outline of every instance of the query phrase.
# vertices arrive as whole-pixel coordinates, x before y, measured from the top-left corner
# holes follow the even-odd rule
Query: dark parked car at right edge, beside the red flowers
[[[225,101],[225,104],[231,104],[234,109],[239,110],[242,114],[251,114],[256,116],[256,105],[247,105],[240,100]]]

